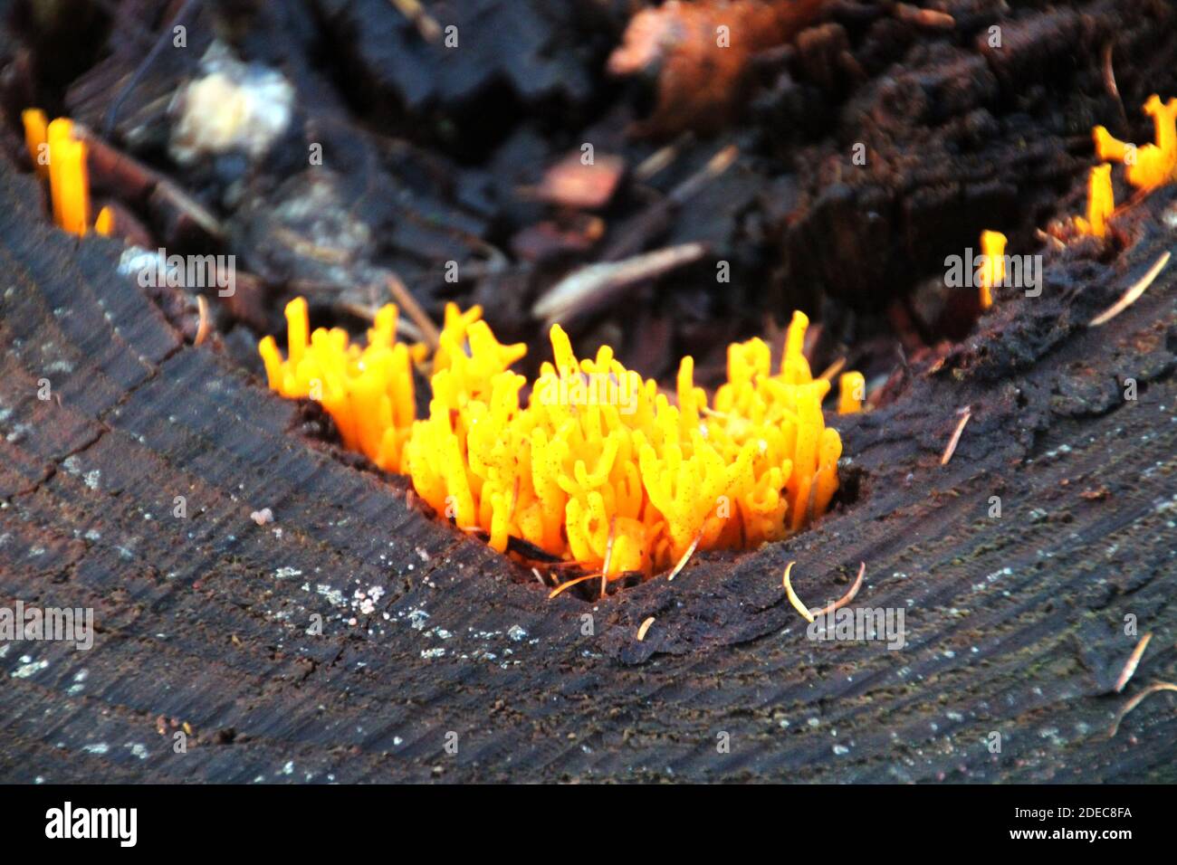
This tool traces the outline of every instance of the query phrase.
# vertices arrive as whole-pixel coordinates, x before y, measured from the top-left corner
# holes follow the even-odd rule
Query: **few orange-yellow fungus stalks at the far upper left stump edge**
[[[46,122],[45,112],[27,108],[21,112],[25,144],[36,173],[48,178],[53,221],[61,228],[82,237],[89,226],[89,178],[86,173],[86,142],[74,138],[73,121],[58,118]],[[106,213],[100,234],[113,228],[113,217]],[[105,229],[105,231],[104,231]]]

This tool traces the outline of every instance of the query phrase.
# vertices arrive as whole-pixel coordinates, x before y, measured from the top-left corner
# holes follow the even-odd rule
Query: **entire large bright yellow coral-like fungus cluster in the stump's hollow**
[[[710,405],[690,357],[672,401],[609,346],[578,359],[556,325],[553,360],[523,405],[527,381],[510,366],[525,346],[500,344],[478,307],[451,304],[430,413],[415,421],[394,306],[377,314],[364,348],[338,328],[308,334],[301,299],[286,318],[288,358],[272,337],[260,345],[270,386],[319,399],[348,447],[407,474],[439,513],[486,532],[499,552],[516,537],[607,579],[649,575],[692,545],[783,538],[824,513],[838,488],[842,440],[822,414],[830,382],[802,353],[809,319],[799,312],[776,374],[763,340],[729,347],[727,381]]]

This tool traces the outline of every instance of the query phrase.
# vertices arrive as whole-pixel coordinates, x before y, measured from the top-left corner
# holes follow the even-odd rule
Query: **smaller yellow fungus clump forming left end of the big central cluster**
[[[284,397],[310,397],[334,419],[344,445],[380,468],[401,470],[401,450],[413,424],[413,373],[408,346],[397,342],[397,307],[384,306],[367,346],[348,344],[341,327],[308,333],[306,300],[286,305],[288,358],[273,337],[258,346],[270,387]]]

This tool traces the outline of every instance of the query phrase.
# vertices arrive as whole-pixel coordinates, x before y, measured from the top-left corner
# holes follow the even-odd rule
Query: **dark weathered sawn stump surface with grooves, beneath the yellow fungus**
[[[1171,248],[1177,194],[839,418],[843,503],[811,531],[588,604],[304,437],[33,182],[0,165],[0,603],[93,607],[98,634],[0,646],[0,778],[1175,780],[1169,694],[1106,738],[1177,678],[1175,271],[1086,322]],[[787,560],[819,605],[865,563],[847,608],[904,610],[905,647],[807,639]],[[1116,696],[1130,614],[1155,638]]]

